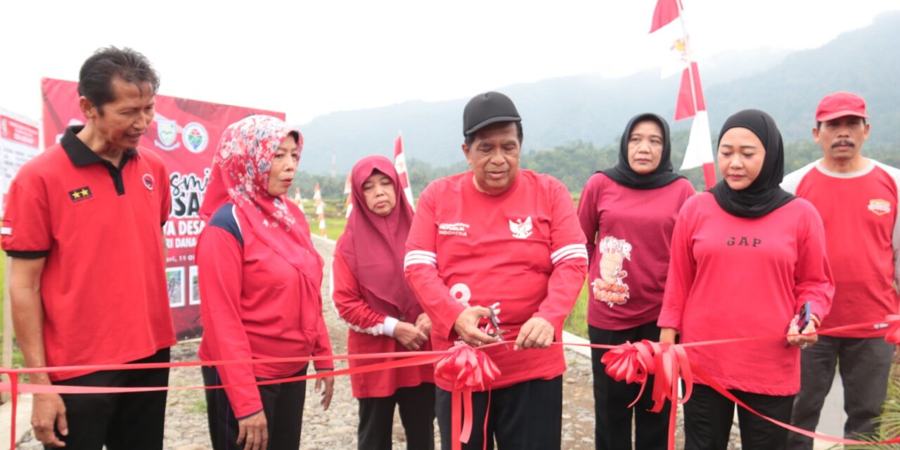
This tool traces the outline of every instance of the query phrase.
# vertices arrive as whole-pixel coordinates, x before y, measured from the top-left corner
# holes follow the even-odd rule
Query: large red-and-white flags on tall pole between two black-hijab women
[[[666,42],[667,56],[663,60],[662,76],[670,76],[679,70],[681,72],[675,121],[694,118],[681,170],[702,166],[708,189],[716,184],[713,144],[709,139],[709,116],[697,61],[691,54],[690,35],[685,25],[681,0],[657,0],[650,32],[661,36]]]

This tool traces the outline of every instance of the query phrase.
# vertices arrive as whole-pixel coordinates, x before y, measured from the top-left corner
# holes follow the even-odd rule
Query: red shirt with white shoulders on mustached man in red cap
[[[838,174],[815,161],[785,176],[781,184],[813,203],[825,224],[825,248],[834,272],[834,304],[823,329],[884,320],[896,314],[900,297],[900,170],[874,159],[859,172]],[[838,332],[846,338],[878,338],[885,325]]]

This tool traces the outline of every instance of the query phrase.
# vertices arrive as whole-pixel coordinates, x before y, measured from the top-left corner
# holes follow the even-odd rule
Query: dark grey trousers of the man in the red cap
[[[847,413],[844,437],[859,438],[875,432],[872,419],[881,415],[895,347],[884,338],[819,336],[815,346],[800,352],[800,393],[794,399],[791,423],[815,430],[837,366],[841,371]],[[813,439],[791,433],[788,448],[812,450]]]

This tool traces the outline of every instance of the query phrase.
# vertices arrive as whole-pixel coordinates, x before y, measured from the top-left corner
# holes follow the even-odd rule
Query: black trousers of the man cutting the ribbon
[[[437,425],[442,450],[452,448],[451,401],[451,392],[437,388]],[[488,411],[488,392],[473,393],[472,403],[472,437],[463,445],[466,450],[482,449],[485,414],[490,450],[494,448],[494,439],[501,450],[553,450],[562,444],[563,375],[495,389],[491,391],[491,411]]]

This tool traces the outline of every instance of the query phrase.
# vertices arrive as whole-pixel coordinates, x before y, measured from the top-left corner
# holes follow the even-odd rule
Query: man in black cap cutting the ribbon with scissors
[[[519,170],[522,123],[504,94],[476,95],[463,113],[472,170],[429,184],[407,240],[404,270],[428,316],[432,345],[484,349],[500,375],[473,395],[464,448],[560,448],[563,321],[587,274],[572,196],[548,175]],[[509,344],[512,344],[509,346]],[[452,388],[437,380],[437,419],[451,444]],[[482,428],[487,420],[487,437]]]

